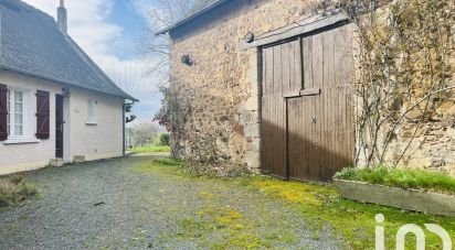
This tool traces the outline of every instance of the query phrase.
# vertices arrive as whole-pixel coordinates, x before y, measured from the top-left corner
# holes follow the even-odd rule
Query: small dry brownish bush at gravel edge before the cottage
[[[22,175],[0,178],[0,207],[17,206],[36,195],[36,188],[25,184]]]

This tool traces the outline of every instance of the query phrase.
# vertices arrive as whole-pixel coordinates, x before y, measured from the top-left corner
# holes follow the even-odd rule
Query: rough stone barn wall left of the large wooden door
[[[188,117],[184,156],[260,166],[258,53],[240,45],[248,32],[286,26],[313,9],[309,0],[234,0],[171,32],[171,89]]]

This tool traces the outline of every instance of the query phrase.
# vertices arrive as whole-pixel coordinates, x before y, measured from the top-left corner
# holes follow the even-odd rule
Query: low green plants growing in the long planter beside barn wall
[[[338,172],[335,177],[402,188],[455,194],[455,178],[437,171],[410,169],[389,170],[385,166],[374,169],[348,167]]]

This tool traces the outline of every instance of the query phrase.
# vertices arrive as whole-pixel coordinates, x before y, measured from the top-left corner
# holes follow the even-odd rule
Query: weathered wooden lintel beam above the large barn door
[[[293,23],[285,28],[265,33],[258,36],[254,42],[246,43],[242,42],[240,48],[242,51],[252,48],[252,47],[260,47],[272,43],[277,43],[279,41],[284,41],[294,36],[303,35],[319,29],[324,29],[330,25],[335,25],[342,22],[348,22],[348,15],[341,13],[340,11],[336,11],[331,15],[327,14],[318,14],[308,19],[305,19],[300,22]]]

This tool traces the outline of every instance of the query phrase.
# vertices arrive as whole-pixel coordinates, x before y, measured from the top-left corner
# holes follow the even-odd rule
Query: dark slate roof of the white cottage
[[[0,0],[0,68],[136,100],[60,32],[52,17],[20,0]]]

